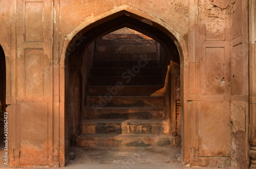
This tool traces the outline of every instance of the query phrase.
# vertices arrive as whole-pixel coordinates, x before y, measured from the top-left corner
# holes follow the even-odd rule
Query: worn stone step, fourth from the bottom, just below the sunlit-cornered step
[[[87,106],[105,107],[163,107],[166,106],[165,96],[87,96]]]

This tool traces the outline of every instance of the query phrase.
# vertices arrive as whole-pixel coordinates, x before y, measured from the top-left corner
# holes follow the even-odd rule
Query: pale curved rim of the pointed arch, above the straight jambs
[[[188,52],[185,44],[185,39],[182,35],[175,31],[172,26],[164,22],[162,19],[157,18],[156,16],[127,5],[122,5],[100,15],[88,17],[78,26],[76,26],[76,28],[70,34],[66,36],[60,55],[60,68],[65,67],[65,59],[68,56],[67,53],[69,53],[69,50],[72,50],[73,44],[75,44],[77,39],[79,39],[84,33],[94,29],[96,26],[116,19],[120,16],[128,16],[129,18],[136,19],[138,21],[156,27],[156,29],[166,34],[173,40],[173,42],[178,48],[180,55],[180,63],[182,67],[188,66]],[[112,30],[109,30],[109,32],[105,32],[104,34],[95,36],[94,39],[97,39],[97,37],[101,37],[105,34],[113,32],[114,30],[120,29],[121,27],[124,27],[124,25],[119,25],[119,27],[115,28],[113,27]]]

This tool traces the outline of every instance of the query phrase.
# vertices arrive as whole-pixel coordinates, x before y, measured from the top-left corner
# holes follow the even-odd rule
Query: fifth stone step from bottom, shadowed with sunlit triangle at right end
[[[89,96],[163,96],[163,86],[88,86]]]

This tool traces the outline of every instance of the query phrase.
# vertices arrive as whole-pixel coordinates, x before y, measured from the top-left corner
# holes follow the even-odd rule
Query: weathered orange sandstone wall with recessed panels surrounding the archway
[[[185,165],[221,167],[231,159],[233,168],[247,167],[248,1],[4,0],[0,6],[11,166],[65,165],[68,44],[125,10],[176,37]]]

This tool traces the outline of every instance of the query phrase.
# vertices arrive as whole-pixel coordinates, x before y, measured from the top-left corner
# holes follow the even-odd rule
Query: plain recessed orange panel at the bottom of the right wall
[[[198,141],[201,157],[229,156],[229,101],[199,101]]]

